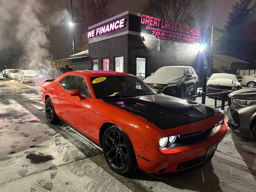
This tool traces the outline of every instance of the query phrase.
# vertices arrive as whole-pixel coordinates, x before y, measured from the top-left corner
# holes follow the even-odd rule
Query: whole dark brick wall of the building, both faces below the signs
[[[89,44],[89,60],[98,59],[101,69],[102,59],[109,58],[109,70],[113,70],[115,56],[124,56],[124,72],[136,74],[136,57],[147,58],[147,76],[158,68],[171,65],[194,66],[198,52],[196,45],[147,38],[143,42],[140,36],[124,35],[113,39]]]

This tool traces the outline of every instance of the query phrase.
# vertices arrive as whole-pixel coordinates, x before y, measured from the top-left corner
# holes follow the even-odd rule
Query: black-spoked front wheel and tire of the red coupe
[[[118,126],[112,125],[106,129],[102,138],[102,149],[108,166],[114,172],[125,176],[137,170],[132,143]]]

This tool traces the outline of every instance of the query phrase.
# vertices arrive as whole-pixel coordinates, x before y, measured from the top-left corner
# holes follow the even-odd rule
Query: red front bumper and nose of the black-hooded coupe
[[[211,124],[214,125],[216,120],[219,121],[220,119],[223,119],[223,114],[217,114],[200,122],[195,122],[193,125],[196,127],[192,124],[190,124],[190,127],[192,127],[194,131],[202,130],[202,127],[206,128]],[[158,132],[156,132],[149,139],[143,152],[135,152],[139,168],[149,173],[159,174],[177,172],[204,163],[210,157],[210,155],[206,156],[207,148],[217,142],[220,142],[227,132],[225,124],[218,126],[221,126],[219,131],[214,133],[214,135],[208,139],[191,145],[166,150],[160,150],[156,145],[156,143],[159,142],[159,138],[163,137],[159,137]],[[181,132],[182,130],[188,130],[188,126],[181,127],[183,127],[179,128]],[[173,132],[172,129],[162,130],[160,132],[164,132],[165,136],[167,136],[167,134],[171,136],[171,132]],[[146,158],[147,160],[141,157]]]

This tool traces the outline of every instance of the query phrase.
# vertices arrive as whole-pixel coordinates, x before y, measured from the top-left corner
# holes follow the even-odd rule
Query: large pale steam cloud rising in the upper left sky
[[[68,18],[68,11],[56,1],[0,0],[0,54],[4,47],[21,45],[14,66],[37,68],[52,59],[47,38],[50,26]]]

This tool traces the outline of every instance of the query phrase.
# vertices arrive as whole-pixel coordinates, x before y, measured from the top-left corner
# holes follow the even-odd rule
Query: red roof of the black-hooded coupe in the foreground
[[[87,75],[91,77],[98,76],[134,76],[128,73],[116,72],[116,71],[103,71],[103,70],[81,70],[81,71],[70,71],[66,74],[70,75]]]

